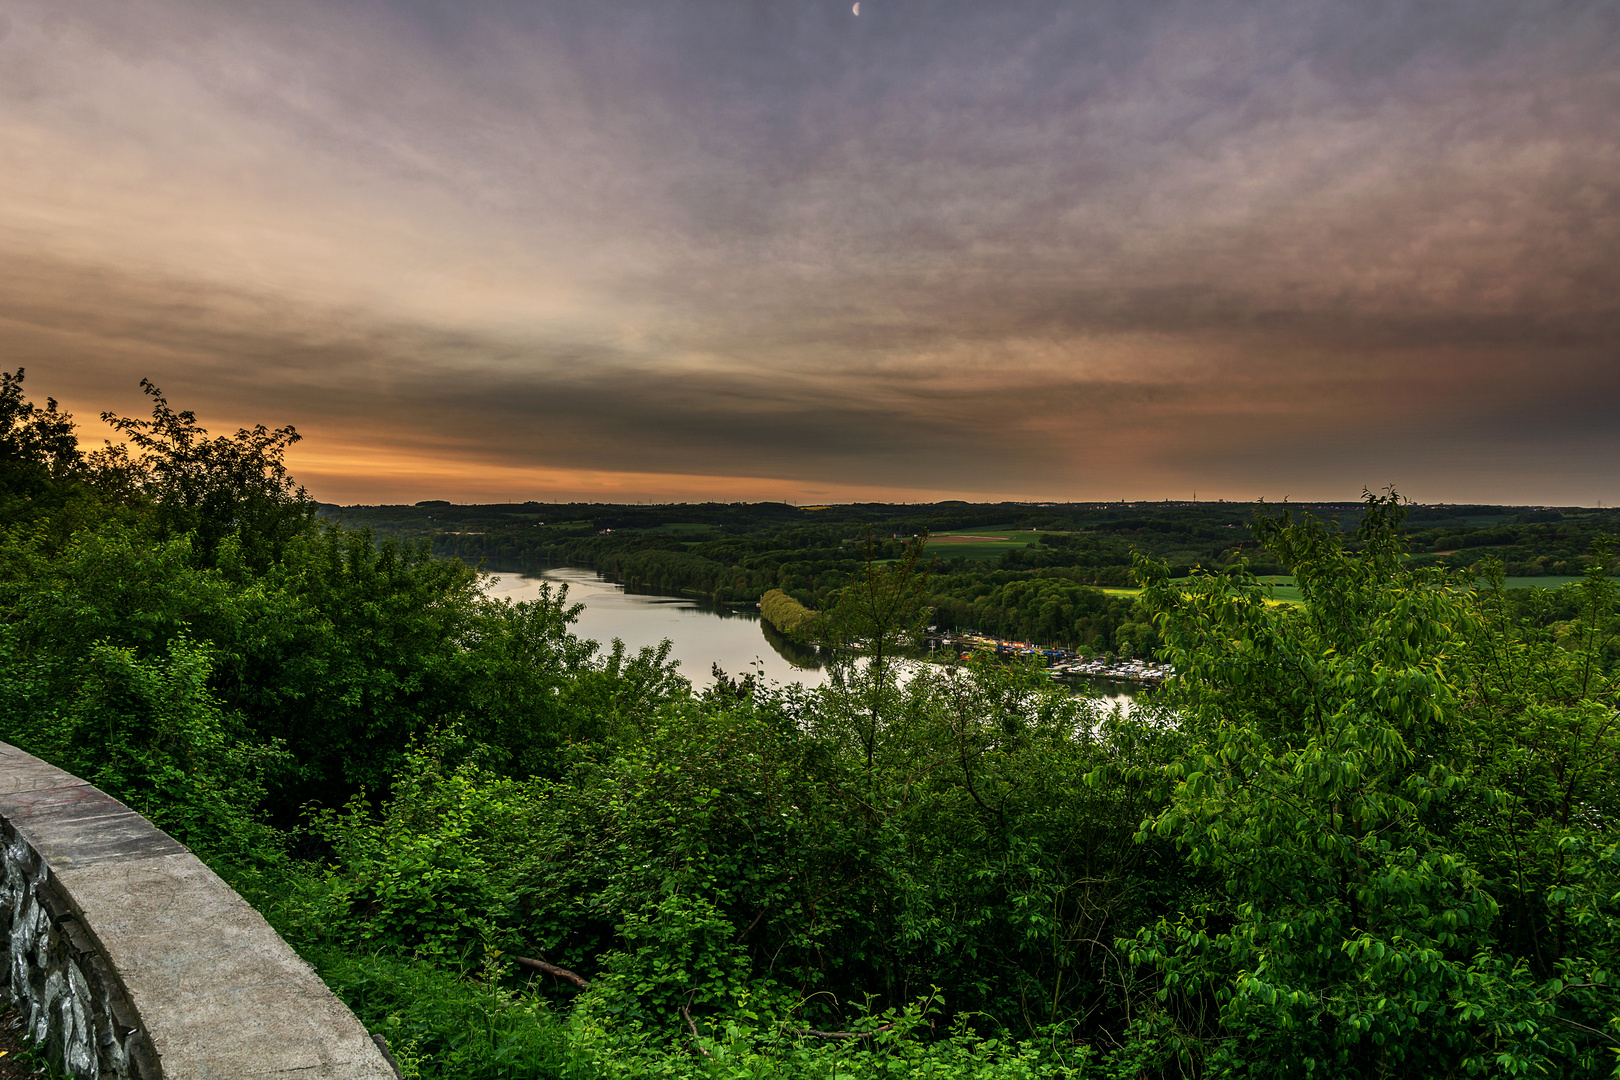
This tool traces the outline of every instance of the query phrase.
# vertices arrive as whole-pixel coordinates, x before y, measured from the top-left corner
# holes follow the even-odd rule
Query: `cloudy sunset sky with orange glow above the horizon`
[[[332,502],[1620,504],[1620,5],[0,0],[0,364]]]

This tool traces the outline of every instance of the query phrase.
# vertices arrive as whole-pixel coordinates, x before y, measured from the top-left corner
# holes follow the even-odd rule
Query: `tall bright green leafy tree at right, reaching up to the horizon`
[[[1571,657],[1482,714],[1505,669],[1477,661],[1526,646],[1481,633],[1469,594],[1401,568],[1400,513],[1393,494],[1369,495],[1354,554],[1311,518],[1262,523],[1304,610],[1267,609],[1246,575],[1173,589],[1142,563],[1199,738],[1165,769],[1170,805],[1144,837],[1176,840],[1221,889],[1144,928],[1132,959],[1162,978],[1160,1022],[1217,1075],[1596,1075],[1620,1012],[1604,899],[1620,879],[1601,824],[1614,708],[1597,719],[1589,678],[1562,708],[1549,699],[1560,674],[1591,674]],[[1601,572],[1591,597],[1596,620],[1612,604]],[[1565,755],[1549,771],[1586,827],[1526,805],[1534,769],[1513,753],[1526,722]],[[1555,933],[1571,902],[1573,949]],[[1541,921],[1528,936],[1526,918]]]

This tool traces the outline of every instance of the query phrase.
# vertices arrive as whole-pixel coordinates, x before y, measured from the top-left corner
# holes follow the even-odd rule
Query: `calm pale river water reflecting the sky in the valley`
[[[820,687],[828,678],[815,649],[787,641],[757,610],[703,604],[680,596],[625,593],[622,585],[603,581],[595,570],[559,567],[528,575],[501,573],[491,583],[489,594],[531,601],[539,594],[541,585],[567,585],[569,602],[585,606],[580,620],[573,623],[573,633],[582,638],[601,641],[603,646],[619,638],[632,653],[669,638],[671,657],[680,662],[680,674],[700,690],[713,682],[714,664],[732,678],[753,670],[763,670],[766,682],[804,687]],[[1128,708],[1134,695],[1129,683],[1118,682],[1098,680],[1090,690]]]

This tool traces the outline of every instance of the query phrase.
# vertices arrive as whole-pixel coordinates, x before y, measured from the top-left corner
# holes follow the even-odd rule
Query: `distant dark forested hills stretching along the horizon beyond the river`
[[[1354,533],[1359,502],[1283,504],[1273,507]],[[922,531],[936,542],[932,555],[944,567],[991,563],[998,568],[1076,567],[1094,570],[1098,583],[1124,583],[1110,570],[1128,568],[1131,552],[1162,559],[1173,570],[1207,568],[1247,559],[1256,573],[1286,573],[1265,555],[1252,533],[1256,505],[1236,502],[1106,502],[1106,504],[847,504],[792,507],[753,504],[488,504],[444,500],[415,505],[319,504],[322,517],[377,536],[428,539],[434,554],[488,560],[501,567],[591,565],[627,562],[633,552],[690,554],[688,580],[671,573],[676,588],[719,591],[721,599],[757,599],[779,580],[755,580],[782,565],[838,562],[868,541],[893,557],[901,538]],[[1464,568],[1486,555],[1503,562],[1508,576],[1575,576],[1594,536],[1620,528],[1620,510],[1583,507],[1414,505],[1403,529],[1411,565]],[[956,542],[966,533],[1008,536],[985,546]],[[1011,536],[1009,536],[1011,534]],[[666,560],[667,562],[667,560]],[[737,570],[745,585],[726,580],[713,565]],[[676,563],[667,563],[676,565]]]

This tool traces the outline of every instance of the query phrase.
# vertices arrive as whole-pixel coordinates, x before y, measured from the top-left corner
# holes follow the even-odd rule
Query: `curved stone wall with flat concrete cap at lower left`
[[[355,1015],[214,871],[0,743],[5,993],[79,1080],[394,1080]]]

